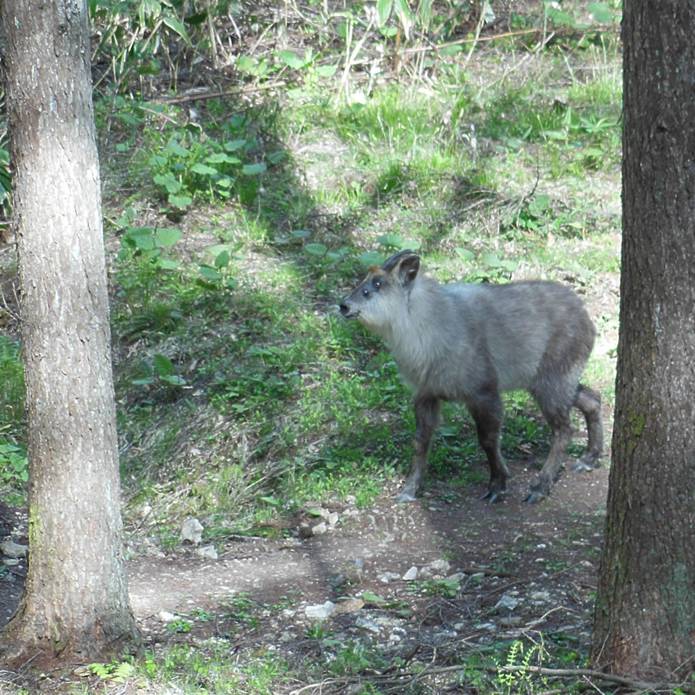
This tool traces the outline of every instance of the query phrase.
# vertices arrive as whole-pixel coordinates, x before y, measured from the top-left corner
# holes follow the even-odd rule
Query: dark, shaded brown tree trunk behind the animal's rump
[[[695,9],[623,14],[623,247],[612,469],[592,660],[695,663]]]

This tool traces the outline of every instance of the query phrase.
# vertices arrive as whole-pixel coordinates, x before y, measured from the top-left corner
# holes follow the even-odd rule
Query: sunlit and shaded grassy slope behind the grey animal
[[[417,245],[443,280],[571,279],[602,311],[594,289],[619,262],[617,73],[618,56],[595,45],[569,58],[502,46],[481,51],[456,80],[444,71],[436,86],[389,82],[365,104],[336,107],[321,95],[272,119],[267,106],[250,106],[243,136],[261,148],[250,158],[268,154],[262,140],[285,156],[253,182],[249,204],[234,193],[210,202],[194,181],[183,214],[153,211],[157,192],[147,189],[149,157],[185,132],[168,123],[187,114],[167,110],[165,126],[145,120],[136,156],[120,164],[133,190],[145,181],[129,200],[133,223],[172,224],[168,209],[183,237],[167,250],[176,270],[153,270],[150,252],[112,265],[129,514],[145,508],[173,530],[195,514],[220,537],[354,489],[367,503],[402,469],[407,391],[379,341],[334,311],[363,274],[365,252]],[[199,122],[223,142],[220,108],[202,105]],[[193,149],[196,138],[178,141]],[[199,263],[213,263],[206,248],[220,244],[235,249],[223,269],[233,288],[201,287]],[[614,328],[614,317],[594,315]],[[610,402],[610,345],[599,345],[589,381]],[[152,373],[156,354],[185,385]],[[516,421],[525,400],[512,405]],[[446,425],[470,436],[456,413],[448,409]],[[445,470],[470,450],[454,445],[434,465]]]

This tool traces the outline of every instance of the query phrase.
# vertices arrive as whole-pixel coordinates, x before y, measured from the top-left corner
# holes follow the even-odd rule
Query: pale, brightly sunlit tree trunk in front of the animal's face
[[[99,162],[84,0],[3,0],[22,284],[29,562],[0,641],[17,662],[139,645],[122,558]]]

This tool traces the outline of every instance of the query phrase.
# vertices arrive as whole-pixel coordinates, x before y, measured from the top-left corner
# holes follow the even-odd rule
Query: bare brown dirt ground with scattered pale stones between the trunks
[[[394,480],[370,509],[327,509],[338,520],[325,533],[301,526],[320,518],[298,519],[288,538],[232,539],[218,559],[129,539],[133,612],[153,649],[221,637],[238,651],[271,649],[297,664],[330,660],[318,624],[322,637],[367,644],[386,663],[441,666],[493,642],[553,635],[581,652],[608,468],[566,471],[549,498],[529,506],[523,492],[536,468],[509,465],[512,486],[496,505],[477,499],[482,484],[452,493],[441,480],[430,480],[418,502],[398,505]],[[22,510],[0,507],[0,537],[26,542],[25,530]],[[416,580],[402,579],[413,567]],[[24,568],[8,568],[12,580],[0,582],[0,624],[17,605]],[[318,623],[312,607],[327,601],[335,607]]]

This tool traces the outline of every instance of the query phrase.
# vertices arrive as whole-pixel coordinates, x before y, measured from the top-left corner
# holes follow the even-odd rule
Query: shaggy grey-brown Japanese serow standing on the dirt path
[[[468,407],[490,467],[482,499],[496,502],[509,470],[500,453],[504,391],[529,391],[553,431],[553,445],[524,500],[550,493],[572,439],[570,411],[587,420],[588,446],[575,471],[596,468],[603,448],[600,394],[579,379],[596,329],[582,300],[550,281],[442,285],[420,271],[420,256],[406,250],[340,304],[382,336],[400,373],[415,391],[415,456],[399,502],[414,500],[427,471],[441,400]]]

